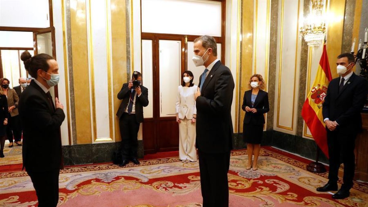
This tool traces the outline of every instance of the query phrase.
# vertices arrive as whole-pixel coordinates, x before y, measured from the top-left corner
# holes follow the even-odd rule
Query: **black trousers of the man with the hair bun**
[[[38,207],[55,207],[59,201],[59,169],[45,172],[27,171],[36,190]]]

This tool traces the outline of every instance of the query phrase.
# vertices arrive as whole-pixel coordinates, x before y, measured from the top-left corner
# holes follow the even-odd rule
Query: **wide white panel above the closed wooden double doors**
[[[219,25],[220,1],[142,0],[142,32],[221,36]]]

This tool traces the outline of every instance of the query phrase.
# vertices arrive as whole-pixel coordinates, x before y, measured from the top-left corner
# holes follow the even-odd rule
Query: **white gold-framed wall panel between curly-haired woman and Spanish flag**
[[[279,2],[274,129],[291,134],[296,133],[296,95],[301,45],[298,38],[298,21],[301,8],[300,0]]]

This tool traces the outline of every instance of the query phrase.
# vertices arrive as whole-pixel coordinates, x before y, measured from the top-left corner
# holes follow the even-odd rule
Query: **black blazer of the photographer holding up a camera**
[[[148,106],[148,88],[140,85],[142,94],[135,98],[135,118],[137,119],[138,123],[143,122],[143,107]],[[128,84],[124,83],[123,87],[121,88],[120,92],[117,94],[117,98],[119,100],[123,99],[121,102],[119,109],[117,110],[116,116],[120,117],[123,115],[125,108],[127,108],[129,99],[130,99],[131,91],[128,88]]]

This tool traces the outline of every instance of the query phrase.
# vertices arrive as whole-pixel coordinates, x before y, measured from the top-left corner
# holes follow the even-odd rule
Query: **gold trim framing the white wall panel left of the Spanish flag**
[[[284,32],[284,0],[281,3],[281,31],[280,31],[280,63],[279,63],[279,87],[278,87],[278,98],[277,98],[277,123],[276,126],[281,129],[293,131],[294,129],[294,110],[295,110],[295,84],[296,84],[296,68],[298,62],[298,42],[299,42],[299,12],[300,12],[300,0],[298,0],[298,18],[297,18],[297,41],[296,41],[296,53],[295,53],[295,68],[294,68],[294,91],[293,91],[293,112],[291,117],[291,127],[281,126],[279,124],[280,117],[280,93],[281,93],[281,74],[282,74],[282,44],[283,44],[283,32]]]

